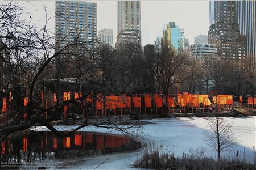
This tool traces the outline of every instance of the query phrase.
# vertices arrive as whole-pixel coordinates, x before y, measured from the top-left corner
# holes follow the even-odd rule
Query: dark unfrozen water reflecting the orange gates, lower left
[[[1,143],[1,162],[35,162],[43,159],[76,158],[138,149],[140,144],[125,136],[77,132],[58,138],[51,132],[29,131]]]

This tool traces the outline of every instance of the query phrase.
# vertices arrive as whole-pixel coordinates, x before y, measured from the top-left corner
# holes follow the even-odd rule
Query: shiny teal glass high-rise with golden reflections
[[[176,50],[184,49],[184,29],[175,25],[175,22],[165,24],[160,32],[158,39]]]

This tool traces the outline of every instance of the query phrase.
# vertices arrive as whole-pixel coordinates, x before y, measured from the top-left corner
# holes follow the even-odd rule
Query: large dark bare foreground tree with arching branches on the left
[[[54,33],[46,29],[49,20],[47,11],[46,23],[39,29],[20,19],[20,15],[25,12],[13,2],[0,5],[0,10],[0,58],[3,62],[0,66],[1,73],[5,74],[5,79],[1,80],[1,87],[5,96],[10,91],[13,92],[12,102],[15,101],[14,107],[9,109],[12,112],[10,120],[0,127],[0,142],[11,133],[38,124],[46,126],[59,137],[68,136],[89,125],[116,129],[128,134],[135,134],[134,132],[141,128],[140,125],[97,125],[88,121],[86,112],[84,123],[76,129],[68,133],[61,133],[55,129],[52,120],[56,114],[63,114],[65,106],[82,104],[89,94],[94,94],[94,97],[97,92],[112,90],[112,87],[100,83],[102,60],[93,50],[88,49],[88,46],[97,41],[96,37],[89,41],[80,39],[79,29],[75,29],[75,25],[75,31],[72,32],[74,39],[56,50]],[[5,55],[2,55],[3,53]],[[63,73],[68,75],[65,76]],[[67,84],[69,86],[66,86]],[[57,95],[57,102],[48,108],[40,100],[40,91],[46,90],[56,92]],[[83,96],[63,101],[61,94],[68,90],[82,92]],[[23,105],[24,97],[28,99],[26,106]],[[50,99],[52,97],[49,97]],[[82,104],[82,107],[85,105]],[[135,131],[131,130],[133,128]]]

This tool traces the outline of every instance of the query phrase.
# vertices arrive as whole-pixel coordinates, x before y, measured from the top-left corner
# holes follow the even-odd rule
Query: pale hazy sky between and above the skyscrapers
[[[9,1],[1,1],[7,3]],[[24,5],[31,14],[27,20],[36,24],[45,22],[43,5],[47,7],[48,18],[54,17],[55,1],[17,1]],[[110,28],[114,32],[114,42],[117,36],[117,3],[116,1],[90,1],[97,3],[97,31],[101,28]],[[154,44],[158,32],[167,22],[175,22],[179,28],[184,28],[184,35],[189,44],[197,35],[207,35],[209,29],[209,1],[141,1],[141,29],[142,46]],[[55,18],[48,28],[55,31]]]

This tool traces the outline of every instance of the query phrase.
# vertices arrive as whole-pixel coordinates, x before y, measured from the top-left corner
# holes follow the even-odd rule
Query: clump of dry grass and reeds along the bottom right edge
[[[208,158],[204,149],[189,151],[189,154],[177,157],[173,152],[164,150],[162,146],[155,147],[154,144],[145,146],[143,155],[135,160],[134,167],[149,169],[255,169],[253,164],[237,158],[224,158],[219,161]]]

